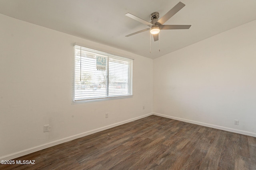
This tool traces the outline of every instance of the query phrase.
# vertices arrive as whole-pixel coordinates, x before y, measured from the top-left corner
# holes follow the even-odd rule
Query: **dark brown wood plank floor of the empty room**
[[[256,170],[256,138],[155,115],[0,165],[22,170]]]

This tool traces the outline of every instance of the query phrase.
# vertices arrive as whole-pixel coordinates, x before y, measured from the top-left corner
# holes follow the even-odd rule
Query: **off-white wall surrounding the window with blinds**
[[[28,154],[152,113],[152,59],[2,14],[0,25],[0,158]],[[134,96],[72,102],[74,42],[134,58]],[[52,128],[43,133],[46,124]]]

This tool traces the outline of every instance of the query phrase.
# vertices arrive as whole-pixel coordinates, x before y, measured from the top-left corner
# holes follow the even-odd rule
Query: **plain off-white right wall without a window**
[[[256,20],[154,59],[153,112],[256,137],[255,30]]]

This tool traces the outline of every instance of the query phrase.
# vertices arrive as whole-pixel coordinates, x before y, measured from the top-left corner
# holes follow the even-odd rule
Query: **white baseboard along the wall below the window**
[[[74,139],[78,139],[80,137],[84,137],[84,136],[87,136],[87,135],[90,135],[90,134],[93,134],[93,133],[96,133],[96,132],[104,131],[106,129],[110,129],[112,127],[116,127],[116,126],[122,125],[124,123],[135,121],[135,120],[138,120],[138,119],[141,119],[141,118],[144,118],[144,117],[148,117],[150,115],[153,115],[153,113],[148,113],[146,115],[142,115],[142,116],[135,117],[135,118],[132,118],[132,119],[128,119],[128,120],[125,120],[125,121],[114,123],[114,124],[111,124],[111,125],[108,125],[108,126],[100,127],[98,129],[94,129],[94,130],[91,130],[91,131],[79,133],[77,135],[72,135],[70,137],[66,137],[66,138],[63,138],[63,139],[59,139],[59,140],[56,140],[56,141],[45,143],[45,144],[42,144],[42,145],[39,145],[39,146],[36,146],[36,147],[32,147],[32,148],[29,148],[29,149],[21,150],[21,151],[12,153],[12,154],[8,154],[8,155],[5,155],[5,156],[2,156],[2,157],[0,157],[0,160],[12,160],[14,158],[18,158],[20,156],[24,156],[26,154],[30,154],[30,153],[33,153],[33,152],[36,152],[36,151],[39,151],[39,150],[42,150],[42,149],[53,147],[55,145],[59,145],[61,143],[72,141]]]

